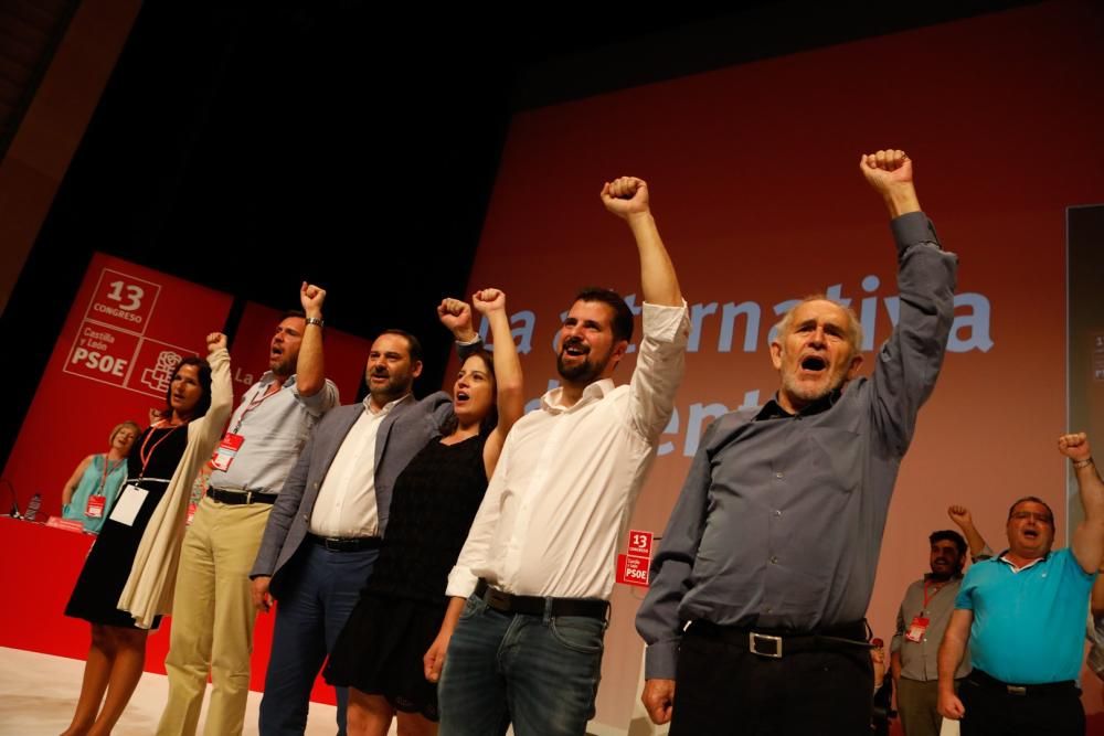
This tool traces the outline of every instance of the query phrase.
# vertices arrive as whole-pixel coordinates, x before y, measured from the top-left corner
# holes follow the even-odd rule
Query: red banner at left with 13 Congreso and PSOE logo
[[[120,422],[149,424],[150,409],[164,407],[173,367],[205,354],[206,335],[223,329],[231,301],[95,254],[4,468],[21,508],[39,492],[42,518],[60,514],[62,487],[77,463],[106,452]]]

